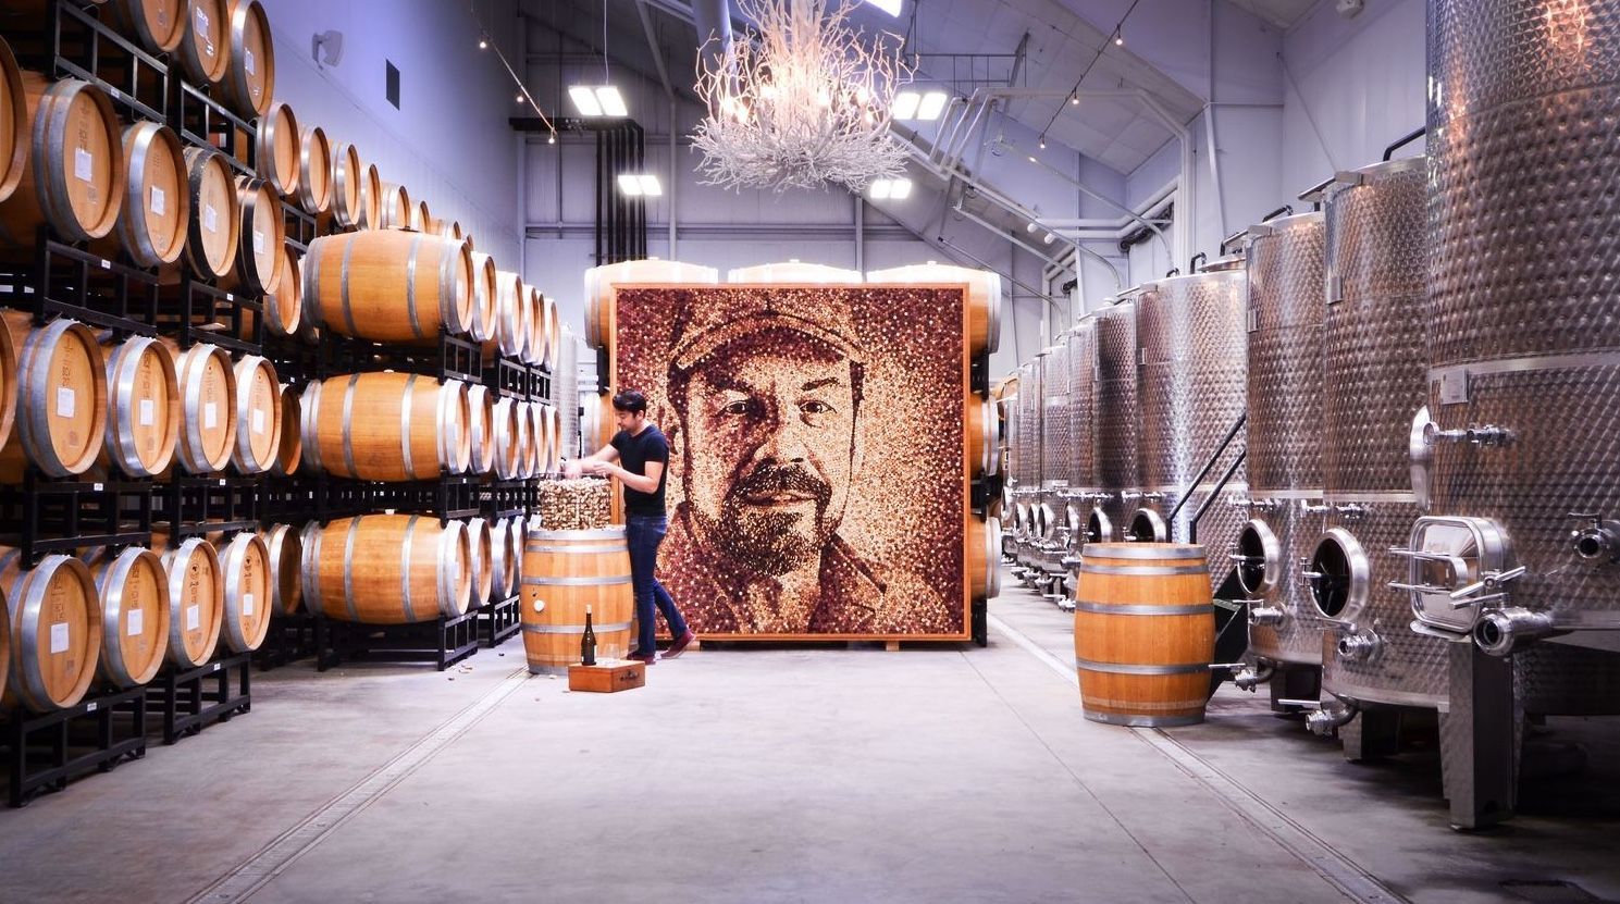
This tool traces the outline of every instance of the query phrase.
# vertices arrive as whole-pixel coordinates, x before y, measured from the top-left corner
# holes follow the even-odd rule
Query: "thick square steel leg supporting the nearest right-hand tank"
[[[1452,828],[1490,828],[1513,815],[1524,716],[1513,661],[1473,643],[1450,650],[1450,711],[1440,713],[1440,771]]]

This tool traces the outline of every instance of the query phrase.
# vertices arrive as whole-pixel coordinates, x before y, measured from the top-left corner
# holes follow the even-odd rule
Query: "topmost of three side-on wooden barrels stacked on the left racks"
[[[324,235],[305,256],[305,296],[321,326],[374,342],[437,342],[473,314],[473,254],[420,232]]]

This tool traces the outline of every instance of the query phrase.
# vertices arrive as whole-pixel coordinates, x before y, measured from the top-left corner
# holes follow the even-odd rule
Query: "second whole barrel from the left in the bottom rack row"
[[[117,687],[152,680],[168,650],[168,574],[151,549],[84,554],[100,599],[100,677]]]

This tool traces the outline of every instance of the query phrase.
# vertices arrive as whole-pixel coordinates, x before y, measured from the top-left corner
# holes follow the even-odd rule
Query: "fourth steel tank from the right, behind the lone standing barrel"
[[[1204,509],[1196,541],[1217,551],[1210,559],[1218,565],[1244,523],[1241,512],[1213,499],[1244,489],[1236,462],[1247,387],[1243,258],[1145,285],[1136,301],[1136,340],[1140,489],[1124,494],[1136,502],[1128,536],[1187,541]],[[1231,463],[1239,467],[1221,486]],[[1213,588],[1228,572],[1210,569]]]

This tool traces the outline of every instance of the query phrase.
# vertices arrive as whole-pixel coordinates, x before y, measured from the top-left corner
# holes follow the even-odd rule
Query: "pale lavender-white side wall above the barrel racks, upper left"
[[[518,259],[514,83],[492,52],[478,50],[467,3],[447,0],[261,0],[275,39],[275,97],[300,125],[350,141],[387,181],[460,220],[480,251]],[[510,0],[478,13],[514,55]],[[318,66],[311,37],[343,32],[343,57]],[[386,96],[384,60],[400,70],[400,109]]]

